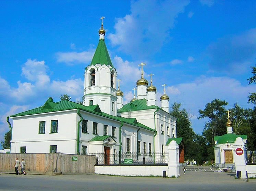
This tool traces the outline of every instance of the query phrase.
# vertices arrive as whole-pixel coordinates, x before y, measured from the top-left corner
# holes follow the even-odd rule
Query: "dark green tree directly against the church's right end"
[[[177,137],[183,137],[183,142],[185,145],[185,148],[184,148],[185,158],[194,159],[193,153],[190,152],[191,151],[190,145],[193,142],[195,132],[191,127],[191,122],[190,122],[187,111],[184,108],[181,109],[180,107],[181,107],[181,103],[174,102],[172,105],[172,111],[170,112],[170,114],[177,118],[176,132],[177,132]]]

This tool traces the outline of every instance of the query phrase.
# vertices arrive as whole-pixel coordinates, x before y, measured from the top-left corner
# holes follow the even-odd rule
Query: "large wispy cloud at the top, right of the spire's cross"
[[[189,1],[146,1],[131,3],[131,14],[117,18],[115,33],[107,35],[113,46],[133,57],[155,54],[169,37],[175,18]]]

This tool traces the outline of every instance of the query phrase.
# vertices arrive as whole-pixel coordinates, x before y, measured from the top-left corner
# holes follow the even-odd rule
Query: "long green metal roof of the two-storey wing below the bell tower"
[[[81,109],[82,111],[94,113],[99,116],[103,116],[103,117],[114,119],[120,122],[128,123],[139,128],[147,129],[149,131],[155,131],[154,129],[151,129],[145,126],[144,124],[137,122],[135,118],[128,119],[121,116],[112,116],[112,115],[101,112],[100,107],[98,105],[84,106],[69,100],[62,100],[56,103],[51,101],[46,101],[45,104],[41,107],[37,107],[35,109],[21,112],[21,113],[12,115],[10,117],[20,117],[20,116],[26,116],[26,115],[51,113],[51,112],[66,111],[71,109]]]

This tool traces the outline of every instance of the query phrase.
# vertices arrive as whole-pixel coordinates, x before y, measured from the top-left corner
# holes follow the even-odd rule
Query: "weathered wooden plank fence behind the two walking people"
[[[77,160],[72,160],[77,157]],[[26,162],[27,173],[94,173],[96,156],[62,153],[15,153],[0,154],[0,172],[14,172],[15,159]],[[19,172],[21,168],[19,167]]]

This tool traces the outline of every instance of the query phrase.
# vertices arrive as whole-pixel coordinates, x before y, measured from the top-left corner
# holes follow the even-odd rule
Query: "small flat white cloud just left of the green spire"
[[[92,61],[94,52],[95,52],[95,50],[84,51],[84,52],[81,52],[81,53],[77,53],[77,52],[67,52],[67,53],[58,52],[58,53],[56,53],[56,56],[57,56],[57,61],[58,62],[64,62],[64,63],[68,63],[68,64],[88,63],[88,62]]]

